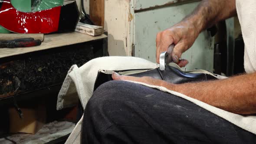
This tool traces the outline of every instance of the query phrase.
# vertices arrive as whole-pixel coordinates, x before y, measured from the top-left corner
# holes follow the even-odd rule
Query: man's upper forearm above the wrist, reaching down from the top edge
[[[236,15],[236,0],[202,0],[199,6],[184,20],[193,23],[198,33],[218,21]]]

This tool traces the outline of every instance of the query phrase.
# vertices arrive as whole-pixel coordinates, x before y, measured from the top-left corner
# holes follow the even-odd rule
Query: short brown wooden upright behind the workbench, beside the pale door
[[[104,10],[104,0],[90,0],[90,17],[95,25],[104,27]]]

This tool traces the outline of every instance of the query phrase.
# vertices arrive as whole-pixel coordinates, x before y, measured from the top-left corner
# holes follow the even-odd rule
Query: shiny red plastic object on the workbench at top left
[[[53,33],[58,31],[61,6],[38,12],[20,12],[10,0],[3,0],[0,25],[15,33]]]

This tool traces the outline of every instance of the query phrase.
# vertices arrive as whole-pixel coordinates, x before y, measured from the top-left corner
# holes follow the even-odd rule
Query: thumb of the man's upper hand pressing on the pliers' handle
[[[178,63],[179,59],[181,59],[181,55],[182,55],[183,52],[185,52],[184,43],[177,43],[177,45],[174,46],[174,49],[171,53],[172,60],[175,63]]]

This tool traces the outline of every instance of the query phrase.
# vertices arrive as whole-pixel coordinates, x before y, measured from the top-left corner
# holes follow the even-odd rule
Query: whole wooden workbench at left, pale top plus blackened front
[[[82,66],[105,56],[105,37],[75,32],[50,34],[41,46],[0,49],[0,101],[61,84],[72,65]]]

